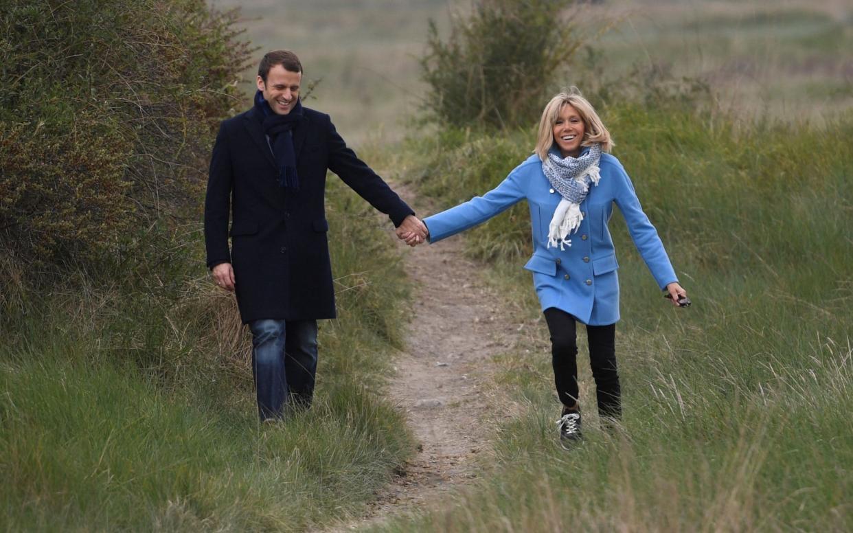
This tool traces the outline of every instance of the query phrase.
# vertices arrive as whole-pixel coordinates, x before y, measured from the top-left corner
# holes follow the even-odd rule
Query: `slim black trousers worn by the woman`
[[[548,322],[548,331],[551,333],[557,394],[563,405],[571,407],[577,402],[577,321],[566,311],[549,307],[545,310],[545,322]],[[618,419],[622,415],[622,403],[616,368],[616,324],[587,326],[587,337],[598,414]]]

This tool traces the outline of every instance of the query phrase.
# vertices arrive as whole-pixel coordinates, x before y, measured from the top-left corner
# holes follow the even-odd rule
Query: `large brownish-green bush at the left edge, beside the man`
[[[0,253],[89,263],[197,220],[249,49],[203,0],[0,2]],[[0,279],[0,283],[2,283]]]

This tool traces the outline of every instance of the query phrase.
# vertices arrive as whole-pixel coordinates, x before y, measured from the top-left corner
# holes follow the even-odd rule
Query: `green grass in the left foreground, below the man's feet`
[[[259,427],[69,355],[5,362],[5,529],[302,530],[368,500],[405,453],[392,409],[359,391]]]

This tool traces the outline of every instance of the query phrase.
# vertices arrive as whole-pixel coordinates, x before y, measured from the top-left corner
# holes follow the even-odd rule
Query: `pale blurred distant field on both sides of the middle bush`
[[[410,126],[427,90],[417,63],[427,20],[446,33],[450,16],[470,9],[460,0],[212,4],[242,6],[258,58],[267,49],[296,51],[306,78],[319,81],[309,105],[330,113],[344,138],[356,144],[416,135]],[[588,90],[606,80],[695,78],[734,113],[821,124],[853,105],[851,10],[846,0],[595,3],[577,9],[589,32],[589,51],[578,55],[565,84]]]

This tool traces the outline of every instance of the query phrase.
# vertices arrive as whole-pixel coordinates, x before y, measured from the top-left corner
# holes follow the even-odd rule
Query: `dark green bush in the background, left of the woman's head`
[[[560,14],[572,0],[480,0],[443,42],[430,22],[422,78],[427,110],[456,126],[537,122],[555,78],[581,45]]]

